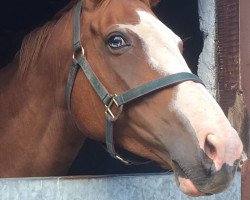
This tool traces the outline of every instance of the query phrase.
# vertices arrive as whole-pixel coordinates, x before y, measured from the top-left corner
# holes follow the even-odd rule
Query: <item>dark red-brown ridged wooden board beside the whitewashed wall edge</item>
[[[239,85],[239,0],[216,1],[218,98],[224,113],[234,105]]]

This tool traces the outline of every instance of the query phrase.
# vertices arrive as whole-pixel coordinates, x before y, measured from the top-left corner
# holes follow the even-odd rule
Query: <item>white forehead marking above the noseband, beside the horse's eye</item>
[[[152,14],[137,11],[140,22],[137,25],[119,25],[135,32],[143,41],[145,53],[152,69],[163,75],[190,72],[179,44],[181,39]]]

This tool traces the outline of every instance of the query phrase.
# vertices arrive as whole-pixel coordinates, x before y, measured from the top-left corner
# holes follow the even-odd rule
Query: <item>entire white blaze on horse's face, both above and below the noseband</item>
[[[152,69],[162,75],[190,72],[178,48],[181,39],[152,14],[145,11],[137,12],[140,18],[137,25],[119,26],[133,31],[140,37]],[[233,164],[239,154],[232,141],[233,138],[237,140],[237,133],[204,86],[191,81],[179,84],[176,86],[175,98],[169,106],[187,127],[193,127],[202,149],[207,134],[215,134],[220,141],[229,145],[221,150],[225,152],[222,152],[222,158],[216,164],[217,169],[221,167],[221,161]]]

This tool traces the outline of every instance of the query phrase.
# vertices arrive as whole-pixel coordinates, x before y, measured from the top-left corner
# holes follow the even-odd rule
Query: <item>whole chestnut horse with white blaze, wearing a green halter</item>
[[[242,143],[155,3],[84,0],[26,36],[0,71],[0,177],[64,175],[89,137],[173,169],[188,195],[230,185]]]

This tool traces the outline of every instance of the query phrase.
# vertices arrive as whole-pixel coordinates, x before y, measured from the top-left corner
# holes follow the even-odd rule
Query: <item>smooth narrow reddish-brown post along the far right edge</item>
[[[250,113],[250,1],[239,1],[239,50],[240,50],[240,80],[246,105],[246,112]],[[245,127],[245,150],[250,156],[250,130],[249,130],[249,117],[247,117]],[[242,168],[242,183],[241,183],[241,199],[250,199],[250,160],[245,162]]]

